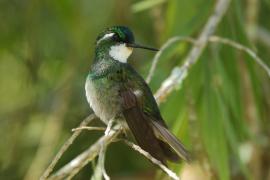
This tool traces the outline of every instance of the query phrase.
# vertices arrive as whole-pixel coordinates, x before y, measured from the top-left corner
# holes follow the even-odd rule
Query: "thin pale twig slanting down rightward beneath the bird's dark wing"
[[[159,166],[160,169],[162,169],[166,174],[168,174],[168,176],[170,176],[172,179],[174,180],[179,180],[179,177],[169,168],[167,168],[165,165],[163,165],[159,160],[157,160],[156,158],[154,158],[153,156],[151,156],[148,152],[146,152],[145,150],[143,150],[140,146],[124,139],[123,140],[129,147],[131,147],[132,149],[134,149],[135,151],[138,151],[140,154],[144,155],[147,159],[149,159],[152,163],[154,163],[155,165]]]

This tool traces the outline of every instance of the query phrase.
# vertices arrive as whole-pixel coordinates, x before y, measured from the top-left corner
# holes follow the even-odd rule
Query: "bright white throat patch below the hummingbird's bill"
[[[119,44],[112,46],[110,49],[110,56],[119,62],[126,63],[128,57],[132,53],[132,48],[126,47],[126,44]]]

